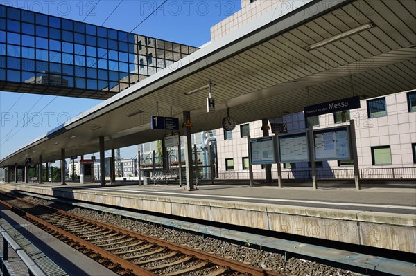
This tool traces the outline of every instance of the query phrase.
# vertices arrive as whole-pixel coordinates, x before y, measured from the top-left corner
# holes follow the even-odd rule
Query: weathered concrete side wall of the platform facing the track
[[[416,253],[416,217],[327,208],[262,203],[238,203],[166,196],[123,194],[100,190],[68,190],[2,184],[1,190],[21,190],[180,217],[230,223],[263,230],[299,234],[391,250]]]

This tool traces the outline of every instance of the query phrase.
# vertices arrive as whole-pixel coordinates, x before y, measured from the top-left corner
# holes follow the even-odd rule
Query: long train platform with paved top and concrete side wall
[[[416,184],[412,181],[354,183],[216,181],[187,191],[177,184],[2,183],[1,190],[114,205],[318,239],[416,253]]]

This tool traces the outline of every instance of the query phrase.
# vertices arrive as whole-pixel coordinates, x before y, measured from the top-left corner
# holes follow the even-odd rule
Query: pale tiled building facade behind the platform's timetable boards
[[[400,92],[385,97],[386,115],[369,118],[367,102],[373,99],[361,100],[361,108],[349,111],[349,118],[354,119],[356,126],[356,145],[358,165],[360,168],[416,168],[416,91]],[[413,102],[410,99],[413,98]],[[413,106],[413,110],[412,107]],[[288,133],[306,131],[304,114],[295,113],[271,118],[270,122],[284,122],[287,124]],[[336,123],[334,114],[329,113],[319,116],[319,125],[313,129],[336,127],[346,123]],[[224,140],[223,129],[217,129],[218,142],[218,170],[227,172],[225,160],[233,158],[233,172],[245,172],[242,158],[248,156],[247,138],[241,138],[240,125],[232,131],[232,139]],[[270,135],[272,133],[270,132]],[[261,121],[250,122],[250,136],[261,137]],[[374,163],[374,148],[390,147],[391,163]],[[292,164],[293,165],[293,164]],[[281,164],[284,168],[284,165]],[[330,169],[352,169],[352,165],[338,164],[337,160],[322,162],[322,167]],[[274,170],[277,165],[272,165]],[[300,162],[295,164],[295,169],[309,169],[309,164]],[[261,165],[253,165],[254,171],[261,171]],[[229,171],[229,170],[228,170]]]

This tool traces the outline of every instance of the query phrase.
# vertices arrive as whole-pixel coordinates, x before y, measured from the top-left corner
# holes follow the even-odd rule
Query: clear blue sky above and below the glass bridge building
[[[196,47],[210,41],[211,26],[241,9],[241,0],[0,0],[0,3],[128,32],[139,25],[132,33]],[[0,160],[100,102],[0,91]],[[121,157],[135,157],[135,151],[132,147],[121,149]]]

